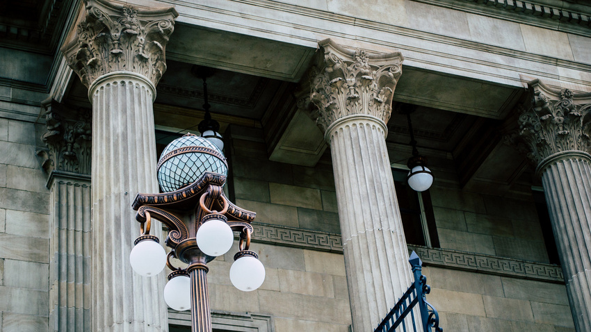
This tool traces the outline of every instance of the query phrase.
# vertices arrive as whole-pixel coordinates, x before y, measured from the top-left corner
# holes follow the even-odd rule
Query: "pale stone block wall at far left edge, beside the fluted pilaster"
[[[35,157],[35,137],[39,137],[35,129],[43,128],[35,128],[33,122],[0,118],[0,331],[3,332],[48,329],[50,202],[46,177]]]

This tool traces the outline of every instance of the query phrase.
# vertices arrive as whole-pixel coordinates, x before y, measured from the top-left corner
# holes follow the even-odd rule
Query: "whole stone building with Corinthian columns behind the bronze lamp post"
[[[444,331],[590,331],[588,1],[21,0],[0,17],[0,331],[189,331],[165,274],[128,257],[133,197],[204,117],[193,65],[215,69],[225,190],[257,212],[266,267],[241,292],[231,254],[209,263],[214,331],[373,331],[411,249]],[[435,176],[420,194],[411,133]]]

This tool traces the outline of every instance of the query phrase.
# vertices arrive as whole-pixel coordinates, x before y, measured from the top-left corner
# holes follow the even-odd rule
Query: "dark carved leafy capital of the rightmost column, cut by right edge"
[[[519,107],[521,149],[535,165],[563,151],[591,152],[591,93],[528,83],[531,100]]]

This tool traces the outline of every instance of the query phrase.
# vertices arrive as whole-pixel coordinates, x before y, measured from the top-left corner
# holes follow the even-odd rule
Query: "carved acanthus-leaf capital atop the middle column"
[[[387,123],[392,96],[402,74],[403,56],[343,49],[331,40],[318,43],[324,50],[319,74],[311,84],[311,101],[318,106],[312,117],[323,131],[341,117],[373,115]]]

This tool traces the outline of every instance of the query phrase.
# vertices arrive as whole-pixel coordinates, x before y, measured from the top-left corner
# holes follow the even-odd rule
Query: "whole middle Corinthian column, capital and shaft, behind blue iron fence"
[[[353,328],[373,331],[412,283],[385,141],[403,57],[320,46],[310,99],[332,153]]]

